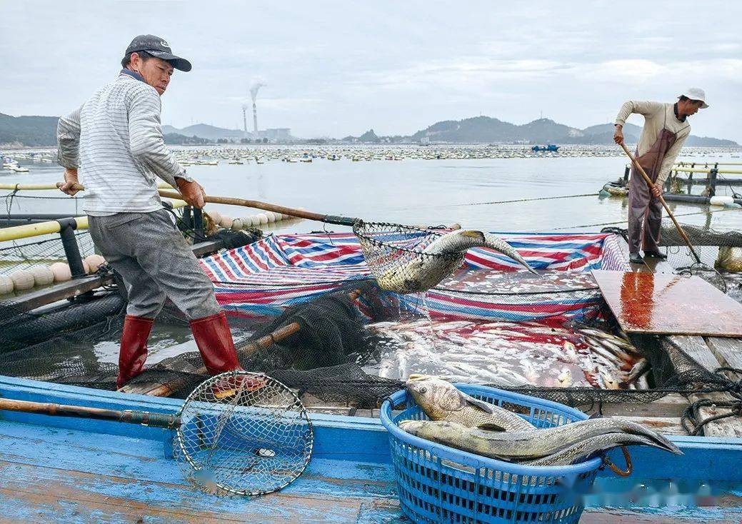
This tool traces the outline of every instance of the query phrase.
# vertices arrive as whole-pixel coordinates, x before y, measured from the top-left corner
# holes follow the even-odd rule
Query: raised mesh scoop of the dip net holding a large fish
[[[381,289],[423,292],[439,284],[464,263],[465,252],[425,253],[444,232],[387,222],[358,221],[353,233],[369,270]]]

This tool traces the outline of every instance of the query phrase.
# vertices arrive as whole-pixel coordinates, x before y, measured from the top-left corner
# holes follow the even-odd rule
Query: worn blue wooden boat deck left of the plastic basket
[[[0,522],[395,523],[389,465],[312,459],[278,494],[194,490],[162,442],[0,423]]]

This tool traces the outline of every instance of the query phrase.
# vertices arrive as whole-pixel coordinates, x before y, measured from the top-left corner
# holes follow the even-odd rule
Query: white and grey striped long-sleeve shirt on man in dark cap
[[[156,177],[171,186],[175,177],[191,180],[165,147],[160,108],[153,87],[122,73],[59,119],[58,162],[79,169],[86,213],[157,211],[162,203]]]

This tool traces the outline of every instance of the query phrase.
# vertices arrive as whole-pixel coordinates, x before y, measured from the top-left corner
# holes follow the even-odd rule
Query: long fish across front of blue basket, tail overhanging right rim
[[[588,419],[554,428],[513,432],[485,431],[466,428],[455,422],[430,420],[404,421],[399,427],[407,433],[451,448],[505,460],[539,459],[611,433],[642,436],[657,448],[680,453],[676,445],[660,434],[621,419]]]

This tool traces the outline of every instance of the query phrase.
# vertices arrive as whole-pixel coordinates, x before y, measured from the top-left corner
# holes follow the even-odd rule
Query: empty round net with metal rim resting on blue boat
[[[278,380],[229,372],[200,384],[183,403],[174,455],[194,485],[263,495],[298,478],[309,463],[312,422]]]

